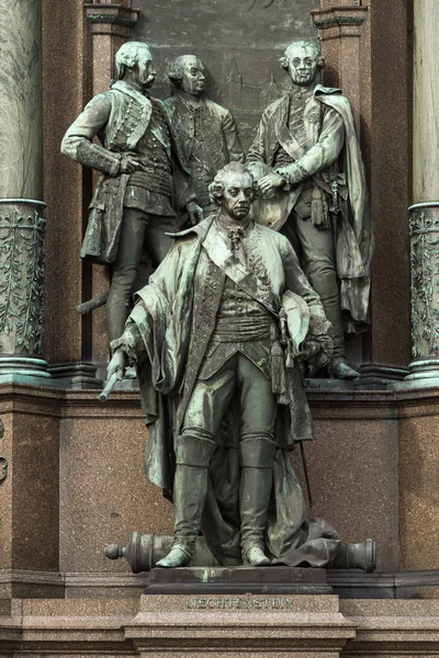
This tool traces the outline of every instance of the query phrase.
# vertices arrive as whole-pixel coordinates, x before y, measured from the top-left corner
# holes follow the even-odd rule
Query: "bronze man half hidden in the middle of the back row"
[[[216,172],[228,162],[244,161],[235,121],[225,107],[204,98],[206,71],[194,55],[177,57],[168,77],[172,95],[165,106],[181,140],[198,203],[212,212],[209,185]]]

